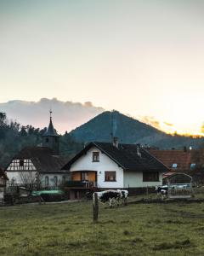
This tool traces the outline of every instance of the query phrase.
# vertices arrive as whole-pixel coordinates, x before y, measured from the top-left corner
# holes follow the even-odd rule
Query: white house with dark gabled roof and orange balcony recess
[[[89,143],[62,169],[70,172],[75,189],[79,182],[98,189],[153,187],[162,184],[163,172],[169,172],[139,145],[117,142]]]

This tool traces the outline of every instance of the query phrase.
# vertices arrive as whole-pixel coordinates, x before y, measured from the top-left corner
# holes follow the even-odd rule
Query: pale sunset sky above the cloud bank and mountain
[[[92,102],[201,134],[204,1],[0,0],[0,102]]]

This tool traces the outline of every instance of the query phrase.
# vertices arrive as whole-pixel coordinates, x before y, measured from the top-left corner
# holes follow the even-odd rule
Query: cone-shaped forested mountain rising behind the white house
[[[141,143],[157,148],[199,148],[204,144],[204,138],[168,135],[117,111],[100,113],[70,134],[77,141],[88,143],[111,142],[111,133],[119,138],[120,143]]]

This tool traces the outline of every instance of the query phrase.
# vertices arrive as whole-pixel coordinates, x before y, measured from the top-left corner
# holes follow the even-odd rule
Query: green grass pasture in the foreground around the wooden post
[[[0,255],[204,255],[204,203],[0,207]]]

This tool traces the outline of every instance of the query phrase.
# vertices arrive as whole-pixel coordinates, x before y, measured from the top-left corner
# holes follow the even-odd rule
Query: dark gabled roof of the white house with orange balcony
[[[139,148],[135,144],[119,144],[118,148],[113,146],[112,143],[89,143],[82,149],[73,159],[71,159],[64,167],[64,170],[69,170],[71,165],[85,154],[88,149],[97,147],[104,154],[109,156],[111,160],[114,160],[118,166],[121,166],[124,170],[129,171],[155,171],[155,172],[169,172],[167,166],[157,160],[152,154],[150,154],[144,148]]]

